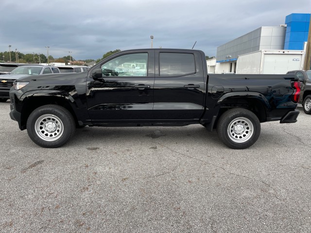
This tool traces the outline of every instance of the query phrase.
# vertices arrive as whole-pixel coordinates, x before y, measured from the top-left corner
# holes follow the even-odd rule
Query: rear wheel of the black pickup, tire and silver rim
[[[232,108],[219,118],[217,133],[226,146],[232,149],[245,149],[259,138],[260,122],[251,111]]]

